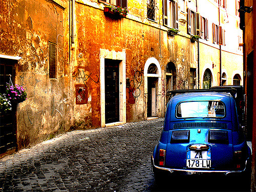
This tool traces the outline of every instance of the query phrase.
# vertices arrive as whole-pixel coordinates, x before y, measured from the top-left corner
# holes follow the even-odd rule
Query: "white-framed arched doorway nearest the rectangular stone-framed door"
[[[154,57],[148,58],[144,67],[144,84],[147,117],[160,116],[161,102],[161,67]]]

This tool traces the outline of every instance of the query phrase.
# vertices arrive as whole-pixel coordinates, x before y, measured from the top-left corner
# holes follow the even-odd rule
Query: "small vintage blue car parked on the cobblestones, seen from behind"
[[[173,93],[151,157],[156,181],[166,174],[225,176],[251,169],[251,151],[239,122],[235,89]]]

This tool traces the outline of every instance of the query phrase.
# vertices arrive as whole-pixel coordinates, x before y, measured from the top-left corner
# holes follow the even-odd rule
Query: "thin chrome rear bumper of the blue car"
[[[151,156],[151,168],[152,168],[152,172],[167,172],[170,174],[180,174],[180,175],[193,175],[193,174],[213,174],[213,175],[233,175],[233,174],[241,174],[243,172],[245,172],[247,170],[248,166],[248,162],[249,162],[248,158],[245,162],[245,168],[243,170],[194,170],[194,169],[176,169],[176,168],[166,168],[166,167],[160,167],[155,165],[154,163],[154,157]]]

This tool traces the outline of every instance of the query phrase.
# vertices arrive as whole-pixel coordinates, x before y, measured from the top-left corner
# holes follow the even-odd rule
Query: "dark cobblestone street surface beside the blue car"
[[[163,119],[72,131],[0,159],[0,191],[151,191]]]

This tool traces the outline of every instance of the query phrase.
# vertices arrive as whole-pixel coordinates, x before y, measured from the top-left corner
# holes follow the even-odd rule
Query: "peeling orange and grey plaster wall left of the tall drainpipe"
[[[56,2],[0,2],[0,54],[22,57],[15,65],[15,83],[28,94],[17,106],[18,148],[70,127],[68,9]],[[49,79],[49,42],[56,45],[56,79]]]

